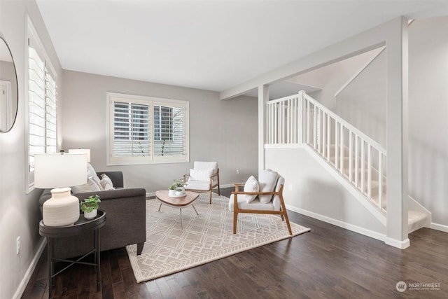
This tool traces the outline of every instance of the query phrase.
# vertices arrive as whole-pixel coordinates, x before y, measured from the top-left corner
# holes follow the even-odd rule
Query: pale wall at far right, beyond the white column
[[[448,231],[448,17],[409,26],[409,195]]]

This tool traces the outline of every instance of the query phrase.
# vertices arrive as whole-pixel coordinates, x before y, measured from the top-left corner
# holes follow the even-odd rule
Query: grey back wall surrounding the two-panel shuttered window
[[[64,149],[90,148],[98,171],[123,171],[125,186],[166,189],[195,160],[218,161],[221,185],[246,181],[258,172],[258,103],[252,97],[221,101],[218,92],[64,71]],[[190,162],[106,165],[106,92],[190,102]],[[239,169],[239,174],[236,170]]]

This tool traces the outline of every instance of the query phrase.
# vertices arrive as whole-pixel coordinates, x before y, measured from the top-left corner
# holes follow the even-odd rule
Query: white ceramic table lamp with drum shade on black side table
[[[87,183],[87,154],[46,153],[34,155],[34,186],[55,188],[51,198],[43,203],[43,224],[71,225],[78,221],[79,200],[71,188]]]

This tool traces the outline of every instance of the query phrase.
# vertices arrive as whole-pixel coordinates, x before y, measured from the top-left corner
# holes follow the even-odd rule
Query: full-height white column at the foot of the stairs
[[[387,52],[386,244],[405,249],[407,238],[407,19],[398,18]]]

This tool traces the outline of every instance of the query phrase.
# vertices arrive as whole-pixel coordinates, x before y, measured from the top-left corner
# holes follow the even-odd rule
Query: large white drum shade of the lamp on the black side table
[[[87,183],[87,154],[34,155],[34,186],[57,188]]]

